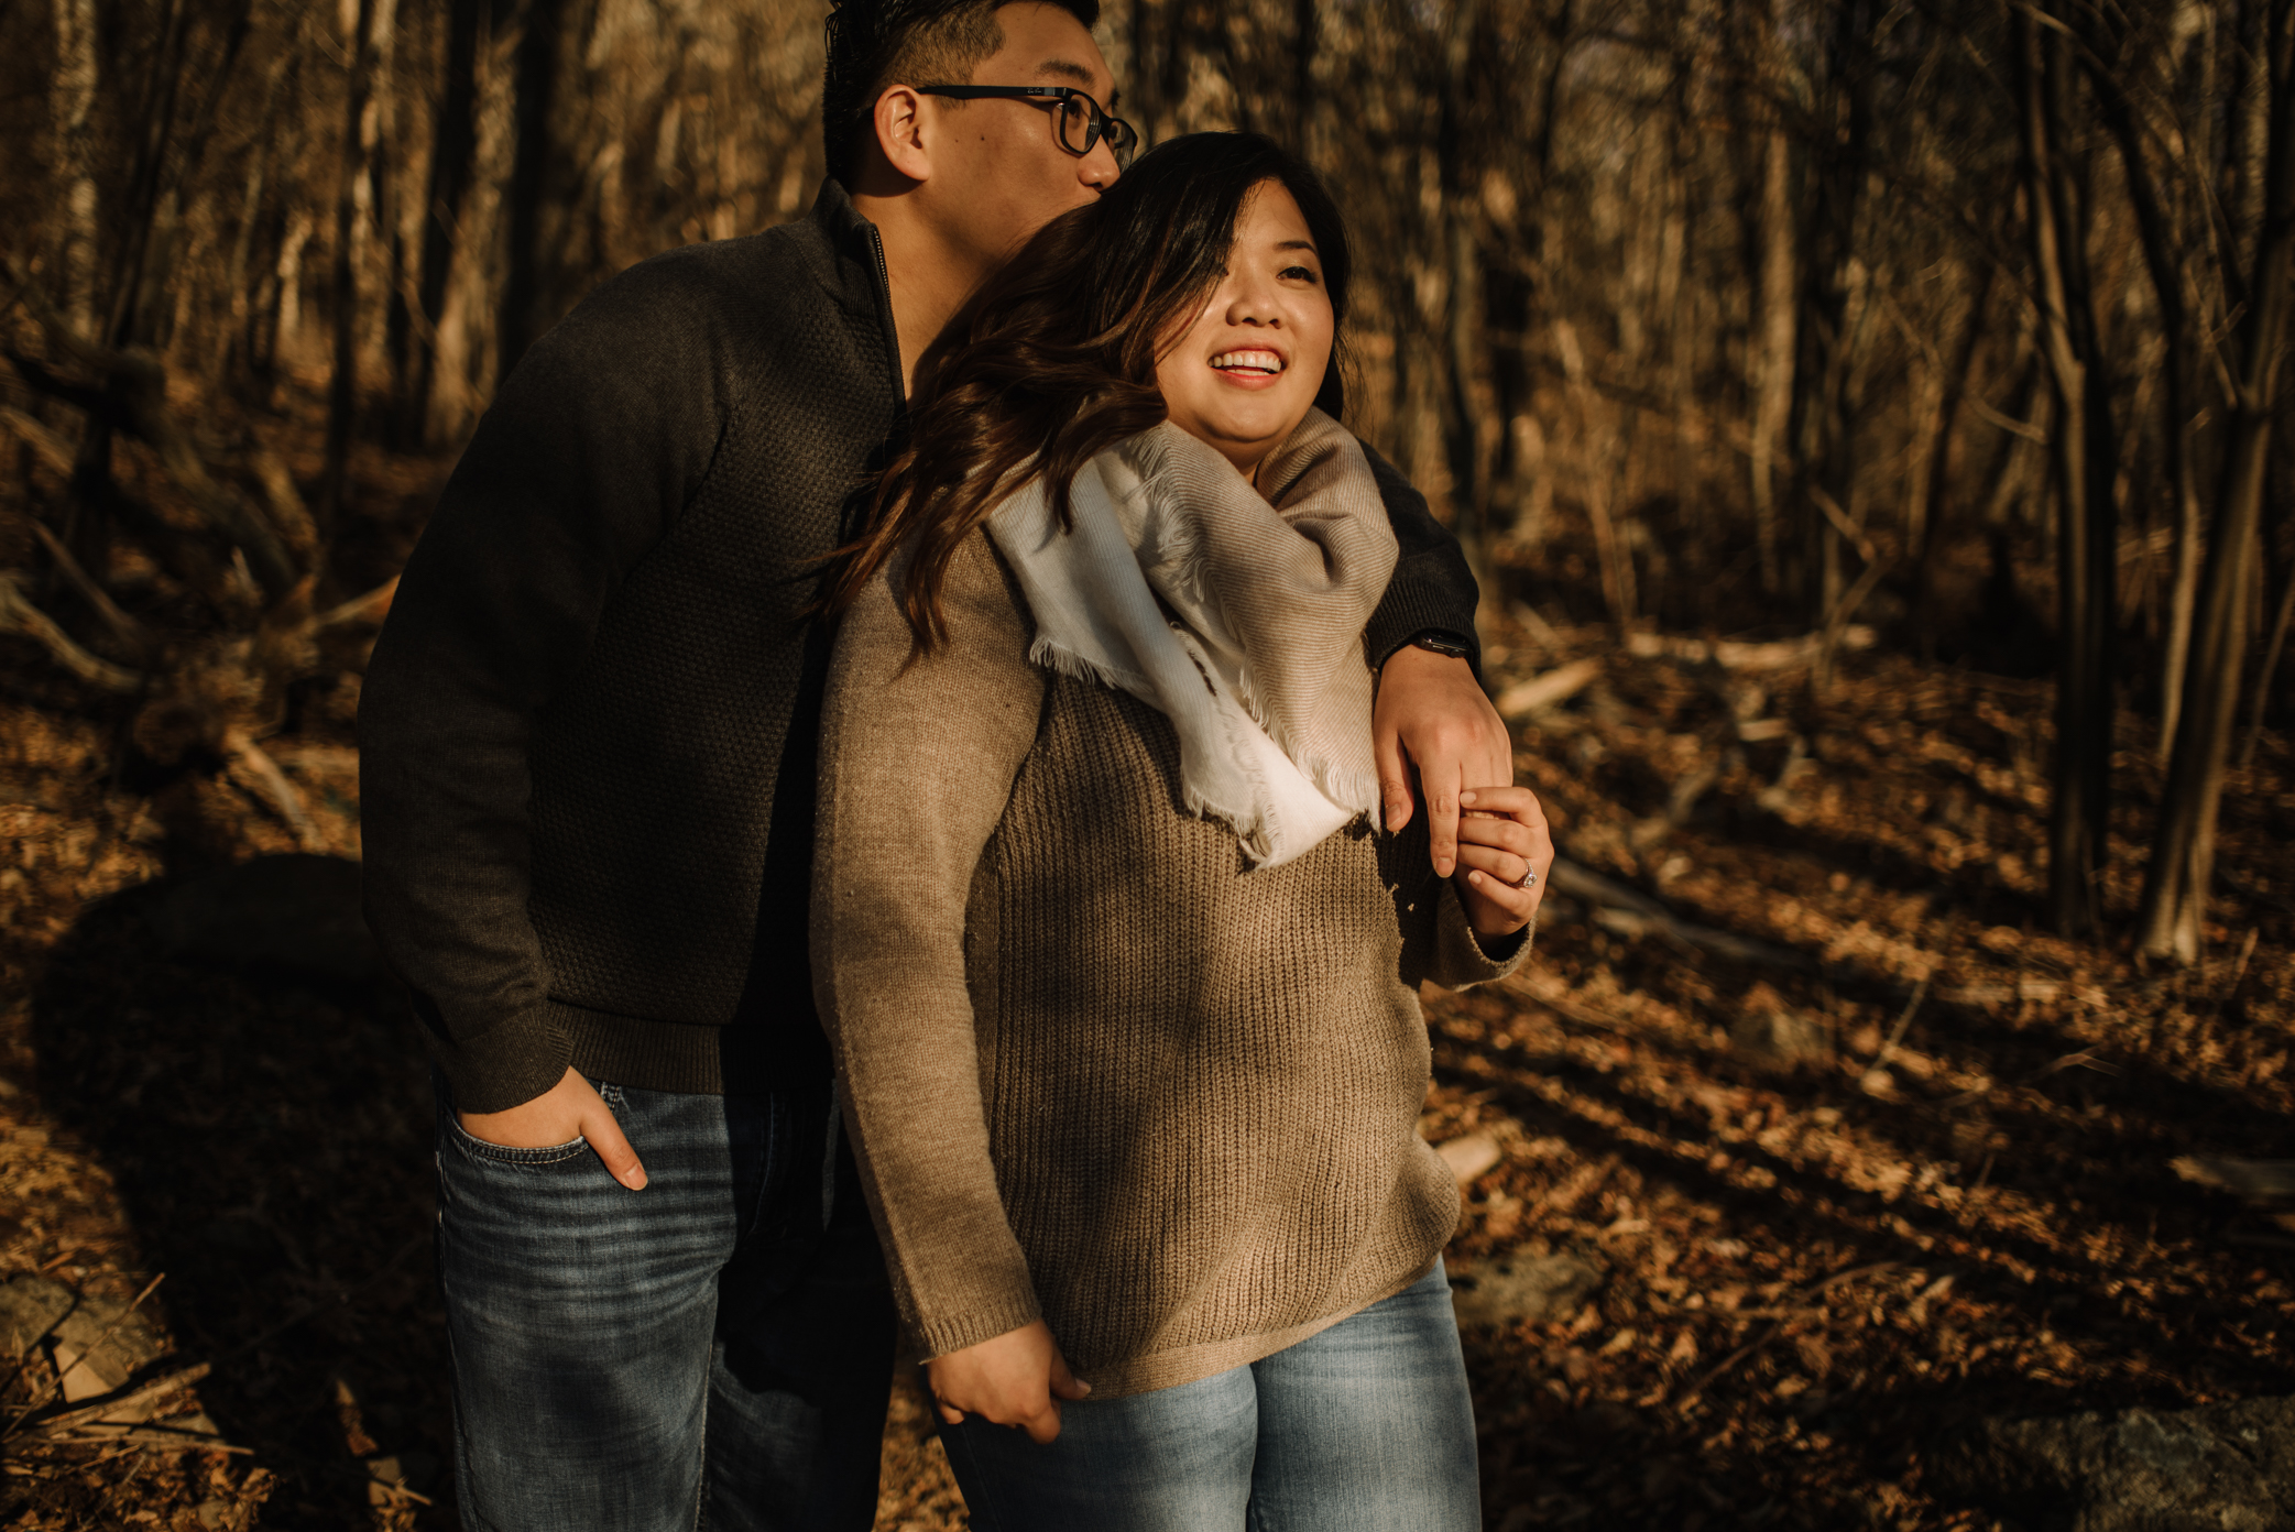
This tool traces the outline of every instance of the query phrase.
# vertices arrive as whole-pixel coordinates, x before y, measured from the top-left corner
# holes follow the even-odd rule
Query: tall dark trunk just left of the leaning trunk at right
[[[2059,30],[2020,21],[2020,124],[2040,349],[2056,394],[2056,771],[2049,807],[2049,915],[2061,936],[2095,931],[2095,878],[2111,794],[2111,401],[2086,268],[2086,218],[2063,124],[2075,87]]]

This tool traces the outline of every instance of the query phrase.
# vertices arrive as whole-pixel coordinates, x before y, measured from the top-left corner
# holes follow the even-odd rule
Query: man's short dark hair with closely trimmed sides
[[[851,183],[854,154],[886,85],[971,85],[980,60],[1003,48],[996,11],[1014,0],[831,0],[822,71],[822,147],[828,174]],[[1044,0],[1099,23],[1099,0]],[[1028,80],[1012,80],[1028,85]]]

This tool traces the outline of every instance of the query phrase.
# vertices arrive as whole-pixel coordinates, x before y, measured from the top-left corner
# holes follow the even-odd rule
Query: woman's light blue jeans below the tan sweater
[[[1476,1532],[1473,1399],[1441,1261],[1269,1358],[1060,1406],[1060,1438],[941,1427],[980,1532]]]

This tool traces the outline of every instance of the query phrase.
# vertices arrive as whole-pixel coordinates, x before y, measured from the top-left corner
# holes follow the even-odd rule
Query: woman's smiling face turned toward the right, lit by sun
[[[1173,424],[1253,477],[1315,404],[1333,328],[1299,202],[1281,181],[1260,181],[1235,220],[1228,275],[1157,362]]]

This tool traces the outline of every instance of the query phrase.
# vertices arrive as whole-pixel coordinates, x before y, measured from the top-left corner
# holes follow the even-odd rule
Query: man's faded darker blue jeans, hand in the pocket
[[[649,1177],[503,1149],[438,1096],[454,1484],[487,1532],[877,1516],[893,1303],[831,1094],[599,1082]]]

